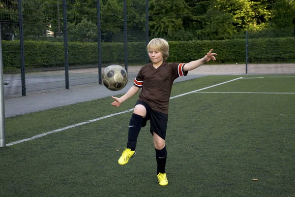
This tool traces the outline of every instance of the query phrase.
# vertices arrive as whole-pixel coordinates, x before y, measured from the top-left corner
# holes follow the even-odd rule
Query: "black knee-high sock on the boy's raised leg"
[[[135,150],[137,137],[141,130],[143,117],[133,113],[129,122],[127,148]]]

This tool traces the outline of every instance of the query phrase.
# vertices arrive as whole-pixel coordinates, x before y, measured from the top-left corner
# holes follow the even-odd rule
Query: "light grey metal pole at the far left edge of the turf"
[[[2,37],[0,23],[0,147],[6,145],[5,139],[5,109],[4,109],[4,87],[3,87],[3,59],[2,59]]]

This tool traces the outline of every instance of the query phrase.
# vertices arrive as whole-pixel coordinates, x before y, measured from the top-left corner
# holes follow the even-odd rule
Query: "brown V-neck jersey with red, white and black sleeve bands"
[[[158,68],[152,63],[143,66],[138,72],[134,85],[142,88],[139,100],[148,103],[153,110],[168,114],[169,99],[174,80],[186,76],[184,63],[163,63]]]

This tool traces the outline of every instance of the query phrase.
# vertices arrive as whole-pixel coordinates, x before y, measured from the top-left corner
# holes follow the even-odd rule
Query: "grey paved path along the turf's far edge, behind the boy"
[[[244,69],[244,65],[205,65],[190,71],[185,77],[179,77],[175,82],[207,75],[244,74]],[[128,71],[136,72],[136,70],[130,70],[130,68],[128,68]],[[4,99],[5,117],[8,118],[54,107],[123,94],[133,85],[133,80],[134,77],[129,78],[126,87],[116,92],[106,89],[104,85],[95,83],[71,86],[69,90],[59,88],[27,93],[26,97],[6,98]]]

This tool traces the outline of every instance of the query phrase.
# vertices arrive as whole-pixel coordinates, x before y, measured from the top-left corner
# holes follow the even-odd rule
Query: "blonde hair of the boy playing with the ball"
[[[152,48],[154,50],[160,51],[163,55],[163,61],[165,62],[169,56],[169,44],[163,38],[153,38],[149,41],[147,45],[147,52]]]

